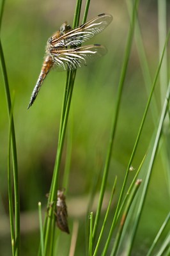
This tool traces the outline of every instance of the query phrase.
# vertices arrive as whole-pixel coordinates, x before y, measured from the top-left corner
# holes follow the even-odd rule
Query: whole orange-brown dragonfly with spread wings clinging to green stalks
[[[27,109],[33,105],[43,80],[52,67],[57,72],[75,70],[98,60],[107,53],[107,49],[100,44],[80,45],[102,32],[111,21],[112,16],[110,14],[102,13],[74,29],[70,27],[68,22],[65,22],[49,38],[46,46],[47,55]]]

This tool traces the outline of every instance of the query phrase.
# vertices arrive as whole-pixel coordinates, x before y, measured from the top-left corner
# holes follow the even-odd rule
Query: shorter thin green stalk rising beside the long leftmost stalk
[[[12,237],[12,255],[15,256],[15,231],[14,231],[14,223],[13,223],[14,216],[13,216],[12,178],[11,178],[12,115],[13,115],[13,104],[12,104],[12,111],[10,113],[10,128],[9,128],[9,136],[8,136],[8,198],[9,198],[9,210],[10,210],[10,228],[11,228],[11,237]]]

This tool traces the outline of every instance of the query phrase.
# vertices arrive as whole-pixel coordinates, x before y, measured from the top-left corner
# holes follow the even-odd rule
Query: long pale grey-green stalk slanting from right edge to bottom
[[[133,231],[132,231],[132,237],[130,239],[130,243],[128,244],[127,256],[130,255],[130,252],[132,250],[132,245],[134,244],[135,234],[136,234],[136,231],[137,231],[139,220],[141,218],[141,213],[143,211],[144,201],[145,201],[146,193],[147,193],[147,190],[148,190],[148,184],[150,182],[151,170],[153,168],[153,163],[154,163],[155,156],[156,156],[156,153],[157,153],[158,143],[159,143],[159,140],[160,140],[160,134],[161,134],[161,131],[162,131],[162,125],[164,124],[164,118],[166,116],[167,102],[169,101],[169,95],[170,95],[170,82],[169,82],[169,86],[167,88],[167,94],[166,94],[166,99],[165,99],[165,102],[164,102],[164,107],[162,109],[162,115],[160,116],[160,122],[159,122],[159,125],[158,125],[157,136],[155,138],[155,143],[154,143],[153,151],[152,151],[152,154],[151,154],[150,166],[148,168],[148,173],[146,175],[146,180],[144,182],[144,188],[143,188],[143,193],[142,193],[142,196],[141,196],[141,201],[139,203],[139,207],[138,207],[138,211],[137,211],[137,218],[136,218],[135,223],[134,223],[134,228],[133,228]]]

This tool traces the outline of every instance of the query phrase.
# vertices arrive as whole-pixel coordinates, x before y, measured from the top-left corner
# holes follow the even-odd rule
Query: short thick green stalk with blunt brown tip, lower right
[[[141,182],[142,182],[142,180],[137,180],[137,182],[135,182],[134,188],[132,189],[132,193],[130,193],[130,196],[129,196],[128,201],[127,201],[127,205],[125,207],[125,211],[123,213],[123,217],[121,219],[120,227],[119,227],[118,233],[116,235],[116,239],[114,241],[114,246],[112,248],[111,256],[115,256],[116,253],[117,253],[118,246],[119,246],[119,243],[120,243],[121,233],[123,231],[123,227],[124,227],[125,221],[127,219],[128,211],[129,211],[130,206],[131,206],[131,204],[134,200],[134,197],[137,193],[137,190],[139,189],[139,186],[140,186]]]

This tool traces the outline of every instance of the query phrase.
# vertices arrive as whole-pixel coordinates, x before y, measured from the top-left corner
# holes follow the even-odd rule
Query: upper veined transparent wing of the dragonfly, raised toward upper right
[[[93,36],[102,32],[112,21],[112,16],[110,14],[100,14],[97,17],[89,20],[88,22],[82,24],[78,28],[71,29],[65,35],[55,38],[53,36],[50,44],[53,47],[67,47],[78,45],[86,42]]]

